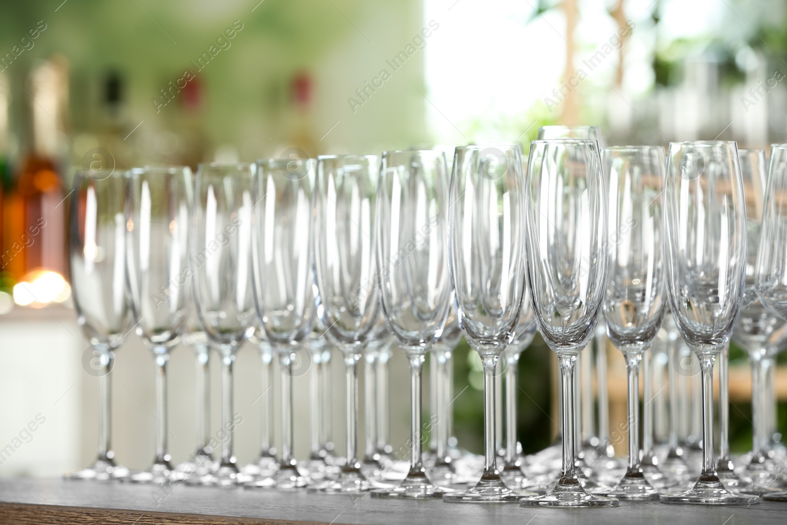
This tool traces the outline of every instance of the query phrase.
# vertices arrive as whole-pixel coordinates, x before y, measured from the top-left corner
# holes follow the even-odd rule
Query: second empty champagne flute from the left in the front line
[[[189,261],[194,185],[190,168],[131,170],[127,200],[127,279],[136,332],[156,364],[156,457],[135,482],[163,483],[173,471],[168,453],[167,362],[186,327],[191,300]]]

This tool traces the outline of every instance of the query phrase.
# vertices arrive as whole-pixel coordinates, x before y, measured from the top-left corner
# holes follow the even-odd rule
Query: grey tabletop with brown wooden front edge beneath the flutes
[[[515,504],[330,496],[305,491],[175,485],[167,493],[150,485],[62,479],[0,479],[0,523],[365,523],[376,525],[481,525],[486,523],[787,523],[787,504],[750,507],[623,502],[617,508],[523,508]]]

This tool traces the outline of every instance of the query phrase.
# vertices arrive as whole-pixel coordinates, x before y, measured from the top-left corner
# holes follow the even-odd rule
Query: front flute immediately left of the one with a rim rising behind
[[[457,147],[449,191],[449,272],[459,326],[484,372],[484,470],[445,501],[518,501],[497,470],[497,361],[514,336],[525,288],[524,183],[518,145]]]

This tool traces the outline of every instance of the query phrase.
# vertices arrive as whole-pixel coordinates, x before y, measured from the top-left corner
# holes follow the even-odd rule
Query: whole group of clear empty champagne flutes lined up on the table
[[[588,133],[559,133],[577,131]],[[224,365],[224,427],[230,436],[223,442],[220,467],[205,472],[203,482],[238,481],[231,447],[232,362],[257,328],[257,337],[272,346],[268,360],[278,357],[284,370],[283,450],[275,471],[251,484],[308,483],[292,456],[291,377],[297,352],[309,345],[319,321],[320,334],[345,360],[348,459],[338,479],[312,490],[373,489],[378,497],[443,494],[446,501],[521,499],[523,505],[555,506],[657,497],[642,475],[637,432],[630,432],[629,468],[619,486],[595,487],[606,496],[583,488],[592,480],[582,479],[586,471],[576,469],[575,360],[603,309],[608,335],[626,355],[630,395],[636,399],[637,366],[659,331],[668,290],[678,332],[695,351],[701,349],[707,386],[708,361],[712,373],[743,293],[741,283],[735,286],[745,268],[736,146],[673,144],[667,169],[660,148],[610,148],[602,161],[593,137],[542,139],[531,144],[527,180],[520,155],[519,146],[457,148],[450,182],[445,157],[437,151],[386,152],[379,165],[376,157],[355,156],[201,165],[195,183],[187,168],[77,176],[72,282],[80,323],[109,361],[129,320],[136,320],[136,331],[156,358],[156,461],[149,472],[131,479],[168,479],[173,471],[166,452],[165,368],[168,349],[187,325],[193,294],[197,332],[220,352]],[[671,209],[670,198],[680,205]],[[677,261],[671,242],[680,243]],[[689,253],[697,246],[699,253]],[[711,278],[716,288],[697,287]],[[683,295],[676,301],[674,294]],[[452,303],[484,370],[484,471],[469,490],[433,484],[421,460],[420,373],[427,351],[449,332]],[[687,311],[690,323],[682,318]],[[560,359],[563,461],[550,494],[523,498],[516,490],[521,486],[506,486],[496,468],[495,370],[501,353],[519,355],[536,326]],[[411,366],[411,466],[393,489],[367,479],[356,457],[354,427],[357,364],[364,349],[387,332]],[[451,345],[443,347],[449,351]],[[436,362],[445,361],[445,355],[436,355]],[[109,378],[102,381],[102,406],[108,406]],[[634,428],[637,408],[637,401],[630,401]],[[662,499],[749,501],[712,479],[712,432],[710,441],[707,435],[712,412],[704,408],[703,442],[711,446],[700,482],[688,495]],[[111,464],[109,420],[103,420],[99,459]],[[513,461],[515,435],[507,442],[506,459]]]

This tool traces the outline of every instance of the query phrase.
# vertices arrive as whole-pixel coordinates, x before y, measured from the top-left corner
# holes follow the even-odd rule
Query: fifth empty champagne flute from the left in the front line
[[[376,334],[380,311],[376,283],[375,198],[379,157],[317,158],[314,260],[328,342],[342,351],[347,394],[347,461],[338,479],[314,490],[360,494],[371,482],[358,460],[358,361]]]

